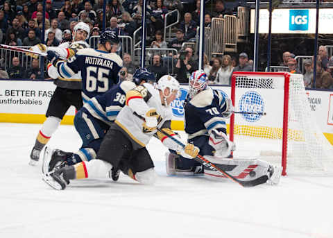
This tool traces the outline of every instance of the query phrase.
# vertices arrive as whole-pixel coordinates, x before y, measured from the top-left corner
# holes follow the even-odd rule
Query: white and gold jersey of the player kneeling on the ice
[[[158,127],[161,128],[166,121],[171,121],[172,119],[172,109],[170,105],[162,105],[159,90],[149,83],[144,83],[135,87],[134,90],[130,90],[126,94],[126,105],[117,115],[114,121],[122,130],[133,139],[139,146],[146,146],[153,133],[144,133],[142,130],[142,124],[144,121],[135,115],[139,114],[144,117],[144,114],[150,109],[155,108],[157,114],[159,114],[162,119],[158,123]],[[169,135],[174,136],[175,134],[170,130],[170,128],[164,128],[164,131]],[[160,134],[160,135],[159,135]],[[177,145],[172,143],[171,139],[165,139],[162,133],[157,133],[157,137],[163,142],[163,144],[169,148],[174,147],[176,149]],[[164,142],[167,142],[167,144]]]

